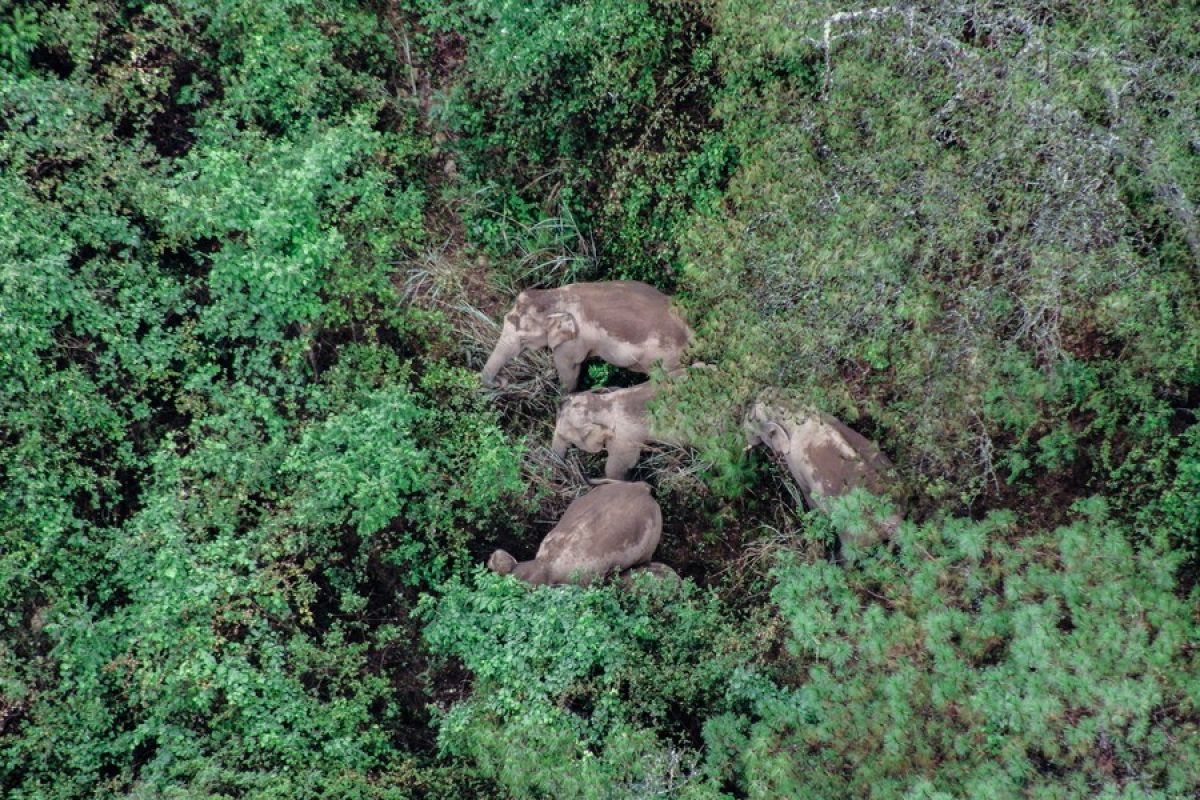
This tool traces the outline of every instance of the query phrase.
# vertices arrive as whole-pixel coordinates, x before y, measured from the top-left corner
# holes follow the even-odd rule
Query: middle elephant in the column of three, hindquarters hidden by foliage
[[[647,441],[686,445],[676,437],[650,435],[646,405],[656,392],[658,386],[644,383],[570,395],[558,407],[551,449],[559,458],[571,445],[584,452],[606,450],[605,477],[624,480]]]

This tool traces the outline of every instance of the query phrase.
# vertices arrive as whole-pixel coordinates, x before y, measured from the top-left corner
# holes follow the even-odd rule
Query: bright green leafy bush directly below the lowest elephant
[[[748,643],[690,583],[540,588],[476,575],[428,600],[425,638],[474,676],[439,714],[443,752],[512,796],[719,796],[690,739]]]

